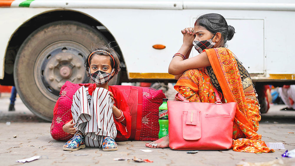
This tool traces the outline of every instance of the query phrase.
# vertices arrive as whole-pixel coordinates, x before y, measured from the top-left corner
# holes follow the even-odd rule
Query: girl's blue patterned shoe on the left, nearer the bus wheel
[[[67,143],[63,145],[63,150],[76,151],[85,148],[85,139],[81,135],[75,135]]]

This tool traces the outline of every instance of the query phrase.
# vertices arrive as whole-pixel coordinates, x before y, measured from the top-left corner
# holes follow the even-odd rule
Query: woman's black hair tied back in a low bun
[[[201,15],[197,18],[195,25],[204,27],[213,34],[220,32],[223,37],[224,45],[226,41],[231,40],[235,34],[235,28],[227,25],[224,17],[216,13]]]

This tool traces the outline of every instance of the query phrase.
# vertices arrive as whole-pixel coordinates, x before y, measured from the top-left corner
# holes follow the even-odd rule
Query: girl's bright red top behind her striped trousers
[[[84,84],[84,86],[88,87],[89,95],[92,95],[92,92],[96,88],[96,84]],[[131,134],[131,114],[129,112],[129,107],[127,105],[127,102],[126,102],[122,92],[118,88],[109,86],[109,91],[112,92],[114,95],[114,101],[115,101],[114,106],[116,106],[119,110],[122,110],[123,115],[126,120],[126,126],[124,126],[113,115],[114,122],[116,124],[116,128],[118,131],[116,141],[127,140]],[[56,110],[56,109],[57,109],[57,105],[55,105],[55,107],[54,107],[54,110]],[[65,123],[70,122],[72,119],[73,119],[73,117],[71,117],[71,119]]]

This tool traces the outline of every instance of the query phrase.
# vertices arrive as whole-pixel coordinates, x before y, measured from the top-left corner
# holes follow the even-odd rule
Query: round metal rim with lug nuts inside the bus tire
[[[59,41],[49,45],[40,53],[35,64],[34,77],[38,80],[38,88],[49,91],[53,98],[59,95],[66,81],[88,82],[85,69],[81,68],[88,54],[89,51],[76,42]]]

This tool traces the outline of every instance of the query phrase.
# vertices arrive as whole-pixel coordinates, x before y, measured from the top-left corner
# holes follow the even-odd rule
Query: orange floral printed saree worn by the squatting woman
[[[237,62],[230,50],[227,48],[211,48],[205,50],[212,69],[222,89],[222,102],[236,102],[237,110],[233,125],[232,148],[238,152],[273,152],[261,135],[257,134],[260,121],[258,101],[254,90],[243,91],[241,77]],[[203,72],[204,71],[204,72]],[[216,102],[214,87],[206,69],[187,70],[178,79],[174,88],[190,102]]]

